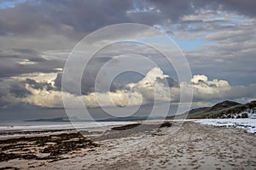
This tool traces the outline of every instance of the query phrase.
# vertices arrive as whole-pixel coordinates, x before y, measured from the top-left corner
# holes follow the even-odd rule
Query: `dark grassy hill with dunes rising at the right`
[[[186,113],[187,114],[187,113]],[[177,116],[184,118],[186,114]],[[167,119],[173,119],[169,116]],[[212,107],[202,107],[189,111],[187,119],[205,119],[205,118],[256,118],[256,101],[247,104],[240,104],[225,100]]]

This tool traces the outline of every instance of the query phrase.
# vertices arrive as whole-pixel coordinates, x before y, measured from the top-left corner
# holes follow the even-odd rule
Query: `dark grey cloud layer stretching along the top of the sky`
[[[1,34],[33,35],[43,31],[76,37],[112,24],[138,22],[153,26],[165,20],[177,21],[200,8],[224,8],[254,16],[255,1],[26,1],[0,10]]]

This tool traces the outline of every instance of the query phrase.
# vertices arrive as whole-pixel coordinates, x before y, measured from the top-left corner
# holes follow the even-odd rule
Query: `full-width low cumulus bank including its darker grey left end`
[[[218,99],[241,99],[256,98],[253,92],[256,90],[256,84],[250,86],[230,86],[225,80],[208,80],[204,75],[195,75],[190,83],[175,82],[172,85],[167,80],[171,77],[165,75],[160,68],[153,68],[148,71],[142,80],[136,83],[128,83],[123,88],[114,92],[91,92],[81,95],[84,105],[95,108],[100,106],[135,106],[135,105],[153,105],[154,102],[178,103],[180,87],[183,89],[193,88],[194,101],[196,105],[203,105],[211,100]],[[177,86],[178,84],[178,86]],[[17,105],[20,102],[29,105],[38,105],[41,107],[62,108],[62,95],[65,95],[73,106],[76,107],[79,101],[77,94],[70,94],[57,90],[49,82],[36,82],[32,79],[26,79],[22,82],[2,82],[5,93],[2,92],[1,105]],[[184,91],[183,93],[189,93]]]

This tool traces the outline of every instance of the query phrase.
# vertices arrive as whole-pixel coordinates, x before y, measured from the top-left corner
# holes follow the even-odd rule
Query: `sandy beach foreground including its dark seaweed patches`
[[[196,122],[184,122],[174,134],[171,128],[3,140],[0,169],[256,169],[253,133]]]

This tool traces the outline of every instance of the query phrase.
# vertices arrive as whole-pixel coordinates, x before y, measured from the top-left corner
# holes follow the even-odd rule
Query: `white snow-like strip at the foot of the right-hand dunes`
[[[238,127],[247,130],[248,133],[256,133],[256,119],[200,119],[191,121],[218,127]]]

